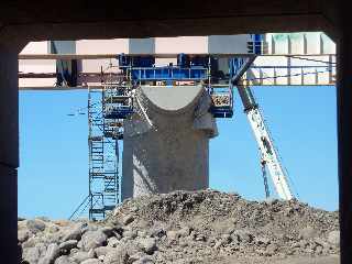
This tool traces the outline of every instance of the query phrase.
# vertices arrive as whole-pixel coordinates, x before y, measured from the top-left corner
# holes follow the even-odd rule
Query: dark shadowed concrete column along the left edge
[[[15,45],[14,45],[15,46]],[[19,263],[18,166],[19,88],[18,51],[0,44],[0,251],[2,263]]]

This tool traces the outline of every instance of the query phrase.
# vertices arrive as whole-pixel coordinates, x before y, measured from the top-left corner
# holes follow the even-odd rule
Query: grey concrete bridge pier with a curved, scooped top
[[[138,89],[124,123],[122,199],[209,186],[209,139],[217,135],[201,86]]]

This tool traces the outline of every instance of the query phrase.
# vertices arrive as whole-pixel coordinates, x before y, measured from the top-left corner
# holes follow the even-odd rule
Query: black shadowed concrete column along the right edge
[[[346,8],[346,7],[345,7]],[[352,35],[349,9],[341,9],[338,41],[338,146],[341,263],[352,263]]]

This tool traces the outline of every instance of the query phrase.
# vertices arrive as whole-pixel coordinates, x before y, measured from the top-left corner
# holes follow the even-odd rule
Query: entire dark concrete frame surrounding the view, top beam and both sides
[[[341,263],[352,263],[352,36],[343,0],[1,1],[0,227],[2,263],[18,262],[18,53],[29,41],[323,31],[338,46]],[[169,7],[172,4],[172,7]],[[34,206],[34,205],[33,205]]]

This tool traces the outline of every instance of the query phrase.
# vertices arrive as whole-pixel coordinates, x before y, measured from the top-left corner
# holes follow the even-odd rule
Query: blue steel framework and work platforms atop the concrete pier
[[[206,85],[210,96],[227,95],[230,98],[229,106],[212,106],[210,112],[215,118],[231,118],[233,116],[232,86],[224,85],[220,89],[213,88],[211,82],[220,79],[218,73],[217,59],[207,56],[189,56],[187,54],[177,55],[177,65],[155,66],[155,59],[150,56],[132,57],[124,54],[118,56],[119,67],[124,75],[130,78],[133,85],[141,85],[144,81],[165,81],[173,85],[173,81],[195,81]],[[119,112],[121,111],[121,112]],[[111,112],[109,117],[120,117],[130,114],[132,110],[117,108],[116,112]]]

